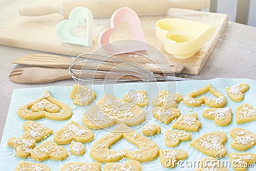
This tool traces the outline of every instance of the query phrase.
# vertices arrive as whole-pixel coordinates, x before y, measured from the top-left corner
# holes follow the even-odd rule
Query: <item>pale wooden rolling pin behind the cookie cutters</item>
[[[200,10],[209,8],[210,0],[38,0],[33,4],[21,6],[20,16],[42,16],[60,13],[68,19],[77,6],[89,8],[93,17],[111,17],[115,10],[127,6],[138,15],[166,15],[169,8]]]

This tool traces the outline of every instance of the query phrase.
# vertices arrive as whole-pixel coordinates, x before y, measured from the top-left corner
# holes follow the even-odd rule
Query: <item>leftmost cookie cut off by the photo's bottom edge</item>
[[[15,171],[51,171],[47,165],[43,165],[41,163],[29,163],[28,161],[20,161],[20,163],[15,168]]]

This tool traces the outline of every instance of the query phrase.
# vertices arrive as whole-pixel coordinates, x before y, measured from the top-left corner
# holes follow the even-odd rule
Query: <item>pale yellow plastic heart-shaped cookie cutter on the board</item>
[[[179,59],[193,56],[211,39],[214,27],[182,19],[162,19],[156,22],[156,36],[164,49]]]

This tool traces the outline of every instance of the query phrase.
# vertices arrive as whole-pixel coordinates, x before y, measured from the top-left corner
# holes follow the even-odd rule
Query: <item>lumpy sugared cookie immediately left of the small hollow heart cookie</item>
[[[177,107],[177,103],[182,101],[181,94],[173,94],[169,91],[159,91],[156,98],[153,98],[151,101],[151,105],[153,107],[163,107],[164,109],[175,108]]]

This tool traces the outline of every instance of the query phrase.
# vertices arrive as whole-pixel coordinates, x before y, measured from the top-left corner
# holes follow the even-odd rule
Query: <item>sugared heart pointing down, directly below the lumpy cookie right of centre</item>
[[[157,121],[164,124],[169,124],[180,116],[180,110],[178,108],[164,109],[164,107],[154,107],[152,113]]]

